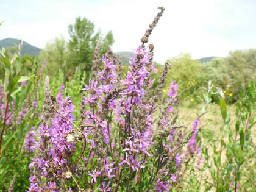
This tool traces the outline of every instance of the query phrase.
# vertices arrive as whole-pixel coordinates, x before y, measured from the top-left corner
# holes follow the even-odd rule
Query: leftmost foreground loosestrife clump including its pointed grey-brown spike
[[[63,88],[60,87],[57,98],[52,98],[49,77],[46,77],[42,121],[26,140],[26,149],[34,151],[29,165],[29,191],[60,191],[65,188],[62,183],[68,177],[68,160],[73,157],[76,144],[66,141],[66,136],[74,129],[74,105],[69,98],[63,98]],[[30,144],[32,141],[35,141],[34,146]]]

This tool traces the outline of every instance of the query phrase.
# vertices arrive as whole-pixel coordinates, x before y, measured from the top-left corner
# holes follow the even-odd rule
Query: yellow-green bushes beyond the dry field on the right
[[[256,78],[256,49],[232,51],[225,59],[215,58],[207,63],[199,63],[189,54],[180,54],[169,61],[172,70],[166,85],[176,80],[182,98],[191,101],[200,101],[201,87],[210,80],[224,90],[227,103],[236,102],[241,88]],[[219,101],[216,95],[212,99],[213,102]]]

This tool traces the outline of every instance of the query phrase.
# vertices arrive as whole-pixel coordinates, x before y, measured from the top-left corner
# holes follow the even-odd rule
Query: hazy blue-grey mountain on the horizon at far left
[[[5,38],[4,40],[0,40],[0,49],[3,47],[13,47],[20,44],[20,40],[16,38]],[[27,43],[26,41],[23,41],[23,45],[21,48],[21,55],[28,54],[30,56],[37,56],[39,55],[41,49],[32,46],[31,44]]]

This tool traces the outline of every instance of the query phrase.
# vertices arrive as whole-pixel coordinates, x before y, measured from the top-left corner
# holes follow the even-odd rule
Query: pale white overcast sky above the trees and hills
[[[149,38],[157,62],[181,52],[198,59],[256,48],[255,0],[0,0],[0,21],[5,20],[0,40],[22,38],[44,48],[61,34],[68,40],[68,25],[81,16],[93,21],[103,34],[112,30],[114,52],[132,51],[159,6],[165,7],[165,13]]]

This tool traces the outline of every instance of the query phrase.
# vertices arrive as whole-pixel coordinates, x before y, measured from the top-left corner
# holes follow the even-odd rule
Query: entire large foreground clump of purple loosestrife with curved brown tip
[[[74,191],[170,191],[179,185],[182,162],[188,157],[184,146],[191,158],[199,151],[198,123],[192,130],[177,124],[180,96],[175,82],[162,99],[170,63],[165,63],[157,87],[152,88],[154,46],[146,43],[163,14],[164,8],[159,9],[123,80],[110,50],[98,60],[98,41],[93,75],[82,93],[79,127],[73,123],[71,101],[63,98],[62,91],[52,98],[46,77],[43,121],[32,147],[30,191],[63,190],[71,177]],[[103,63],[101,71],[98,62]],[[71,163],[74,151],[79,157]]]

